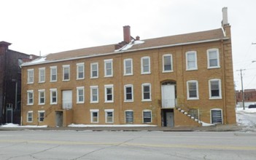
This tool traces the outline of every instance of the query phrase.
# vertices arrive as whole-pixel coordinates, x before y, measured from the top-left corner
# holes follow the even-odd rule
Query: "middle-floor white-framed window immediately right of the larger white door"
[[[198,100],[198,81],[187,81],[187,99]]]

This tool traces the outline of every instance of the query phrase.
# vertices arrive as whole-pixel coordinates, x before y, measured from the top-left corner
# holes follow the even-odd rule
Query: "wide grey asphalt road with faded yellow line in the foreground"
[[[0,159],[256,159],[256,133],[0,131]]]

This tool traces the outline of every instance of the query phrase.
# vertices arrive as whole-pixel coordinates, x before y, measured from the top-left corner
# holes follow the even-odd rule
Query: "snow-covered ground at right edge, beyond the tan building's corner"
[[[244,131],[256,132],[256,108],[238,108],[236,110],[236,122]]]

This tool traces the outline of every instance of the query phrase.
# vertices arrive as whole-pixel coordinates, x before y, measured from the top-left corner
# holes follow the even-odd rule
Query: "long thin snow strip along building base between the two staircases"
[[[69,127],[157,127],[150,124],[69,124]]]

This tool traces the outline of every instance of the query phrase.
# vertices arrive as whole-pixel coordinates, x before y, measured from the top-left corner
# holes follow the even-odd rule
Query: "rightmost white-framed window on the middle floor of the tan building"
[[[209,80],[209,95],[210,99],[221,99],[221,82],[220,79]]]

